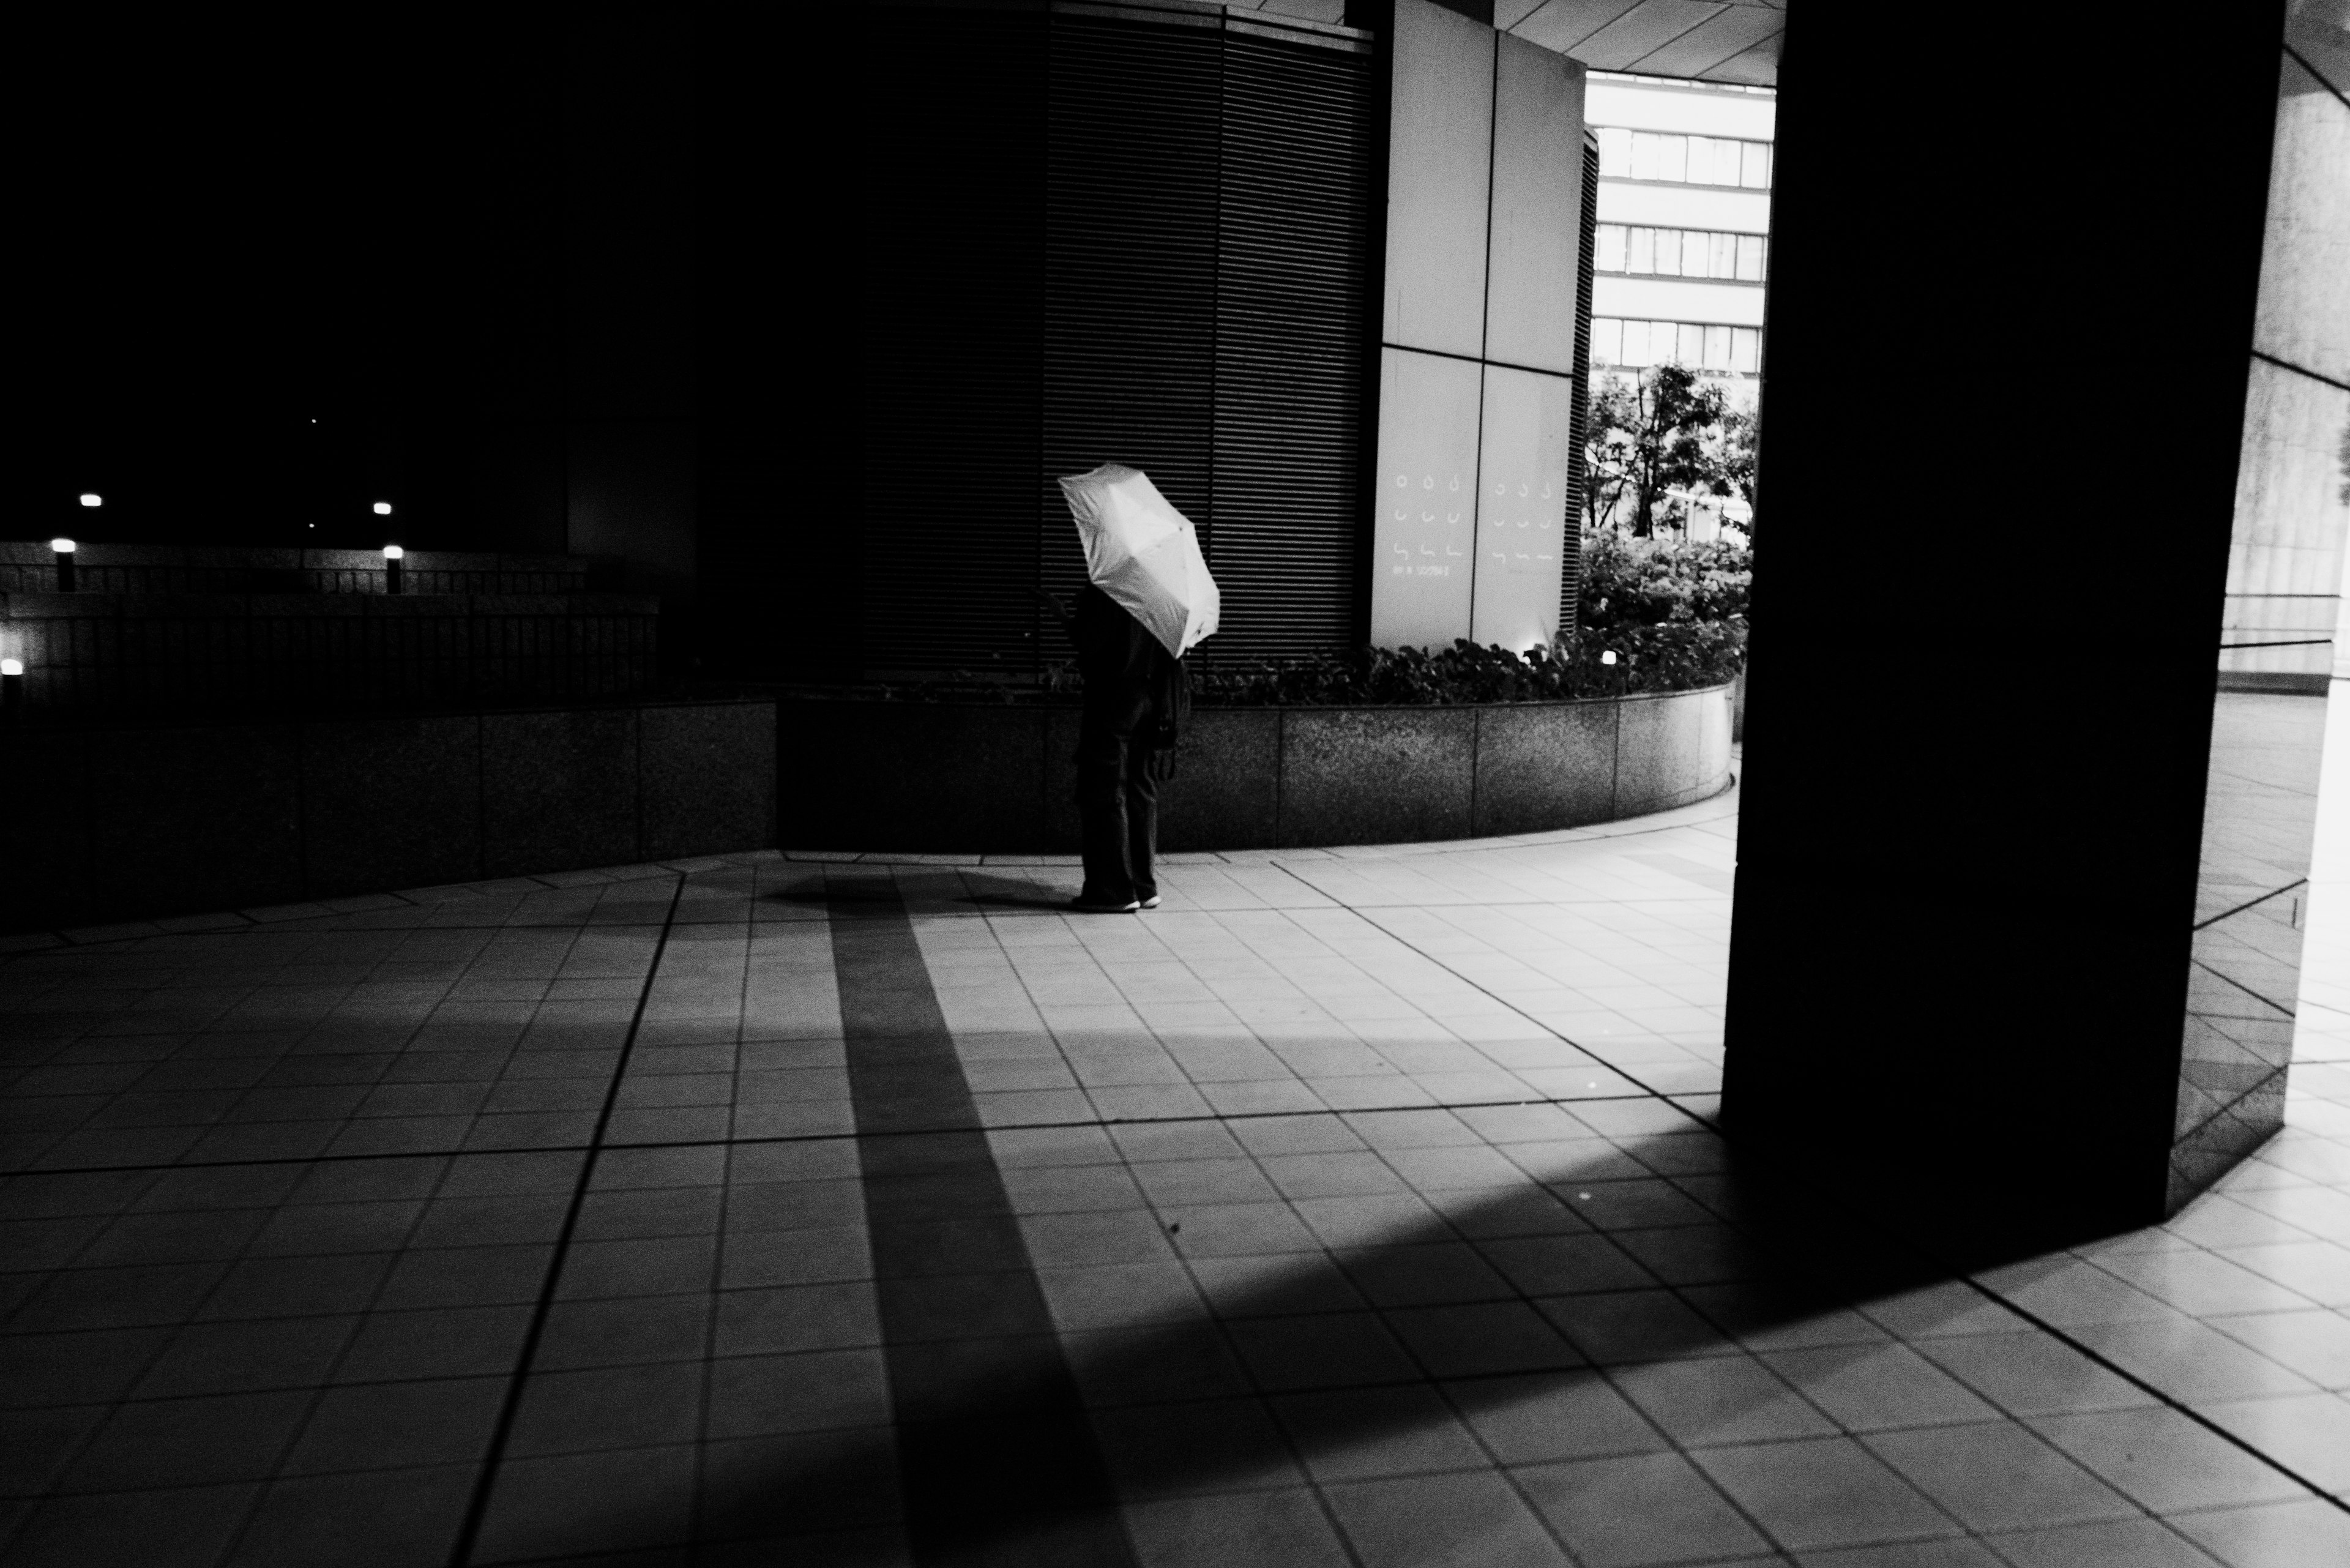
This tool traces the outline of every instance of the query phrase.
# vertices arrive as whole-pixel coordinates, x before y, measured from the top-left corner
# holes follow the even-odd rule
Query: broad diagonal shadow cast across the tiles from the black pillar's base
[[[1300,1119],[1309,1121],[1337,1126],[1337,1117]],[[1213,1124],[1194,1131],[1222,1138]],[[1008,1175],[1018,1187],[1020,1171]],[[994,1227],[1008,1215],[959,1220]],[[1147,1213],[1060,1220],[1065,1232],[1100,1232],[1100,1262],[1147,1262],[1159,1229]],[[1206,1265],[1206,1314],[1060,1335],[1100,1462],[1128,1502],[1300,1481],[1302,1453],[1398,1439],[1448,1408],[1476,1425],[1535,1401],[1574,1406],[1579,1385],[1600,1382],[1596,1366],[1727,1349],[1739,1335],[1953,1274],[1950,1260],[1842,1225],[1817,1204],[1786,1194],[1772,1204],[1767,1185],[1741,1180],[1720,1140],[1694,1124],[1624,1140],[1542,1182],[1464,1194],[1443,1218],[1365,1232],[1328,1253],[1250,1255],[1231,1248],[1264,1239],[1203,1227],[1215,1232],[1194,1215],[1166,1241]],[[919,1378],[912,1392],[928,1418],[924,1441],[971,1465],[971,1486],[987,1490],[1001,1469],[999,1495],[1034,1497],[1034,1486],[1008,1481],[1069,1462],[1025,1441],[1060,1429],[1065,1373],[1050,1345],[992,1335],[987,1319],[996,1298],[1032,1298],[1036,1276],[942,1272],[935,1284],[956,1312],[942,1314],[933,1340],[891,1347],[893,1378]],[[1725,1427],[1748,1403],[1777,1396],[1774,1385],[1730,1380],[1708,1394],[1706,1420]],[[1593,1389],[1591,1399],[1596,1413],[1619,1413],[1612,1392]],[[905,1561],[900,1460],[891,1434],[872,1429],[778,1441],[764,1465],[712,1469],[698,1535],[743,1547],[790,1542],[790,1561]],[[1102,1561],[1083,1547],[1095,1528],[1100,1521],[1053,1509],[994,1509],[952,1552],[914,1561],[1090,1566]]]

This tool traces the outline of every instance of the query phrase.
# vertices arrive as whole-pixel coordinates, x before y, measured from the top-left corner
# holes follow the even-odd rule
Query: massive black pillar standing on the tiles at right
[[[2294,771],[2211,750],[2277,68],[2275,5],[2193,63],[1793,14],[1725,1086],[1793,1192],[2000,1251],[2272,1126],[2282,1058],[2230,1063],[2174,1166],[2207,778]]]

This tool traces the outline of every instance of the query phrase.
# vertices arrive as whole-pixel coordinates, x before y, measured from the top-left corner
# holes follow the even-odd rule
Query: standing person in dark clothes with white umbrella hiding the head
[[[1149,475],[1104,463],[1060,482],[1086,548],[1076,614],[1041,595],[1076,644],[1086,705],[1076,733],[1076,813],[1088,914],[1159,907],[1159,785],[1191,710],[1182,656],[1217,628],[1220,595],[1198,531]]]

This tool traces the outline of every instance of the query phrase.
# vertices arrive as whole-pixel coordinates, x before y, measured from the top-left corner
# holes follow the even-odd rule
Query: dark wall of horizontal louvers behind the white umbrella
[[[1083,583],[1055,477],[1097,463],[1147,470],[1198,524],[1224,590],[1203,656],[1344,644],[1368,49],[1182,12],[924,16],[888,40],[907,108],[872,179],[891,254],[870,296],[862,665],[1067,656],[1032,590]]]

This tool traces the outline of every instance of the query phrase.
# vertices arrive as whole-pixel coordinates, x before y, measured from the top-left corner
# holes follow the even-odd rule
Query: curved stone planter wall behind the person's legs
[[[1076,708],[778,703],[790,849],[1069,853]],[[1201,708],[1161,849],[1544,832],[1730,783],[1730,686],[1582,703]]]

